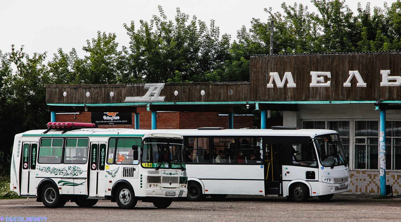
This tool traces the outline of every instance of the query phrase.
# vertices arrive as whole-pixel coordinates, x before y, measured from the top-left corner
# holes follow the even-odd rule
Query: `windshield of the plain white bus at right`
[[[339,166],[346,163],[344,148],[337,134],[325,134],[316,136],[320,162],[323,166]]]

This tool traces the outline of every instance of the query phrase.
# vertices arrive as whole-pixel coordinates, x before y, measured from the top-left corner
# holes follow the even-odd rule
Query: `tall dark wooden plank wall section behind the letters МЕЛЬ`
[[[261,55],[250,57],[250,90],[254,101],[346,101],[346,100],[401,100],[401,86],[380,86],[380,70],[390,70],[390,76],[401,76],[400,52]],[[367,87],[343,84],[348,71],[358,70]],[[331,72],[330,87],[310,87],[311,71]],[[292,72],[296,88],[267,88],[269,72]]]

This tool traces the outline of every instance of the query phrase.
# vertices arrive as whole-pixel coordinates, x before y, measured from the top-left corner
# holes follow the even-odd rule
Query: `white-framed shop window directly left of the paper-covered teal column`
[[[378,169],[379,121],[355,121],[354,168]]]

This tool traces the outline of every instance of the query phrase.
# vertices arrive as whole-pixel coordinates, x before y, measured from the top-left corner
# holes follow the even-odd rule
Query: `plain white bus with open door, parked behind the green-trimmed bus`
[[[228,194],[286,196],[303,202],[350,190],[350,174],[336,131],[198,128],[184,136],[188,200]]]

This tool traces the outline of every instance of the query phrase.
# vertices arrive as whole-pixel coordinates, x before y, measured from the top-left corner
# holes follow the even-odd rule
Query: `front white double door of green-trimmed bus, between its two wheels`
[[[104,197],[106,144],[91,142],[91,162],[89,162],[89,198]]]

